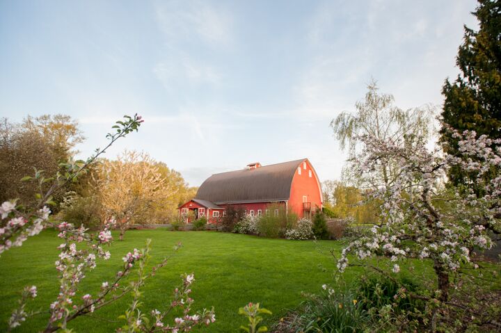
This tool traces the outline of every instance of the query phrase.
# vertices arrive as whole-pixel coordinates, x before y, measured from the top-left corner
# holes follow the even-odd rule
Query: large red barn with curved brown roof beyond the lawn
[[[310,217],[322,207],[320,181],[308,159],[261,165],[222,172],[207,178],[196,197],[179,207],[180,216],[193,211],[195,218],[209,222],[225,216],[228,205],[245,209],[251,216],[274,214],[269,205],[283,205],[300,218]],[[278,213],[278,211],[277,211]]]

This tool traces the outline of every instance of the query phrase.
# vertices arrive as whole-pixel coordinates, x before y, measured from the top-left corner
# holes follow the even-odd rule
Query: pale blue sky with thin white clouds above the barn
[[[124,114],[118,142],[182,172],[308,157],[340,179],[329,122],[366,84],[411,108],[440,106],[475,1],[0,0],[0,117],[65,113],[90,155]]]

